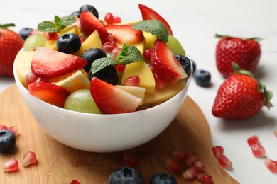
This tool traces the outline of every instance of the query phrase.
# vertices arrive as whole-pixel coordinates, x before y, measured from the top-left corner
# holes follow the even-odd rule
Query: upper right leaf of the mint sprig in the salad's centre
[[[144,58],[138,48],[134,45],[126,44],[123,45],[116,59],[119,64],[123,65],[130,64],[132,62],[144,61]]]

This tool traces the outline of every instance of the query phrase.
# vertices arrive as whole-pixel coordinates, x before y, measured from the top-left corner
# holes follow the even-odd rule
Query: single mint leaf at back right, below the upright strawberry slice
[[[157,38],[163,42],[168,41],[168,30],[165,28],[165,25],[161,23],[161,21],[144,20],[134,24],[132,28],[156,35]]]

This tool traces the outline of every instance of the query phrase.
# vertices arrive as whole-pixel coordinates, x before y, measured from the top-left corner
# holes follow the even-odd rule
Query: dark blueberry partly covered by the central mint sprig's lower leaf
[[[89,71],[89,79],[91,80],[94,76],[112,85],[117,84],[117,81],[119,80],[119,75],[117,74],[116,68],[113,65],[104,67],[95,74],[92,74],[92,72]]]

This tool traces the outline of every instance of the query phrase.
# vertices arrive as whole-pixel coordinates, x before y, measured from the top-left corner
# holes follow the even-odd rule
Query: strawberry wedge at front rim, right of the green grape
[[[134,112],[141,103],[141,98],[116,88],[105,81],[92,78],[90,93],[97,107],[103,114]]]

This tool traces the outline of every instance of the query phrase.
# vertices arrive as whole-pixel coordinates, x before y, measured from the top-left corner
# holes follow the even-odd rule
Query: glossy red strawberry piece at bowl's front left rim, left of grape
[[[28,91],[31,95],[36,96],[36,98],[60,108],[63,108],[67,96],[70,95],[70,92],[64,88],[43,81],[29,84]]]

